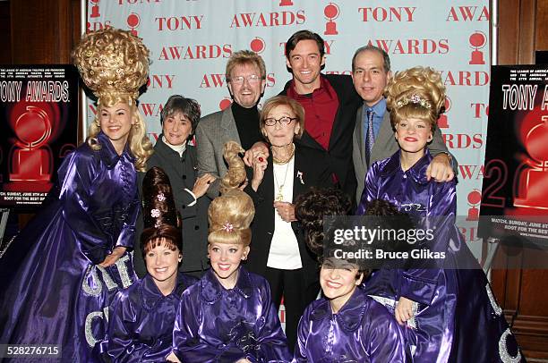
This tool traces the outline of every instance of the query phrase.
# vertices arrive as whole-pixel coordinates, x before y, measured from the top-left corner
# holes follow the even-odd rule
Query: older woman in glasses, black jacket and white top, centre
[[[304,109],[295,100],[270,98],[262,108],[260,128],[271,153],[256,156],[248,170],[245,191],[256,212],[247,266],[268,280],[277,308],[283,296],[287,345],[293,350],[304,308],[320,291],[316,259],[304,244],[293,201],[310,187],[329,187],[331,173],[324,152],[293,142],[304,131]]]

